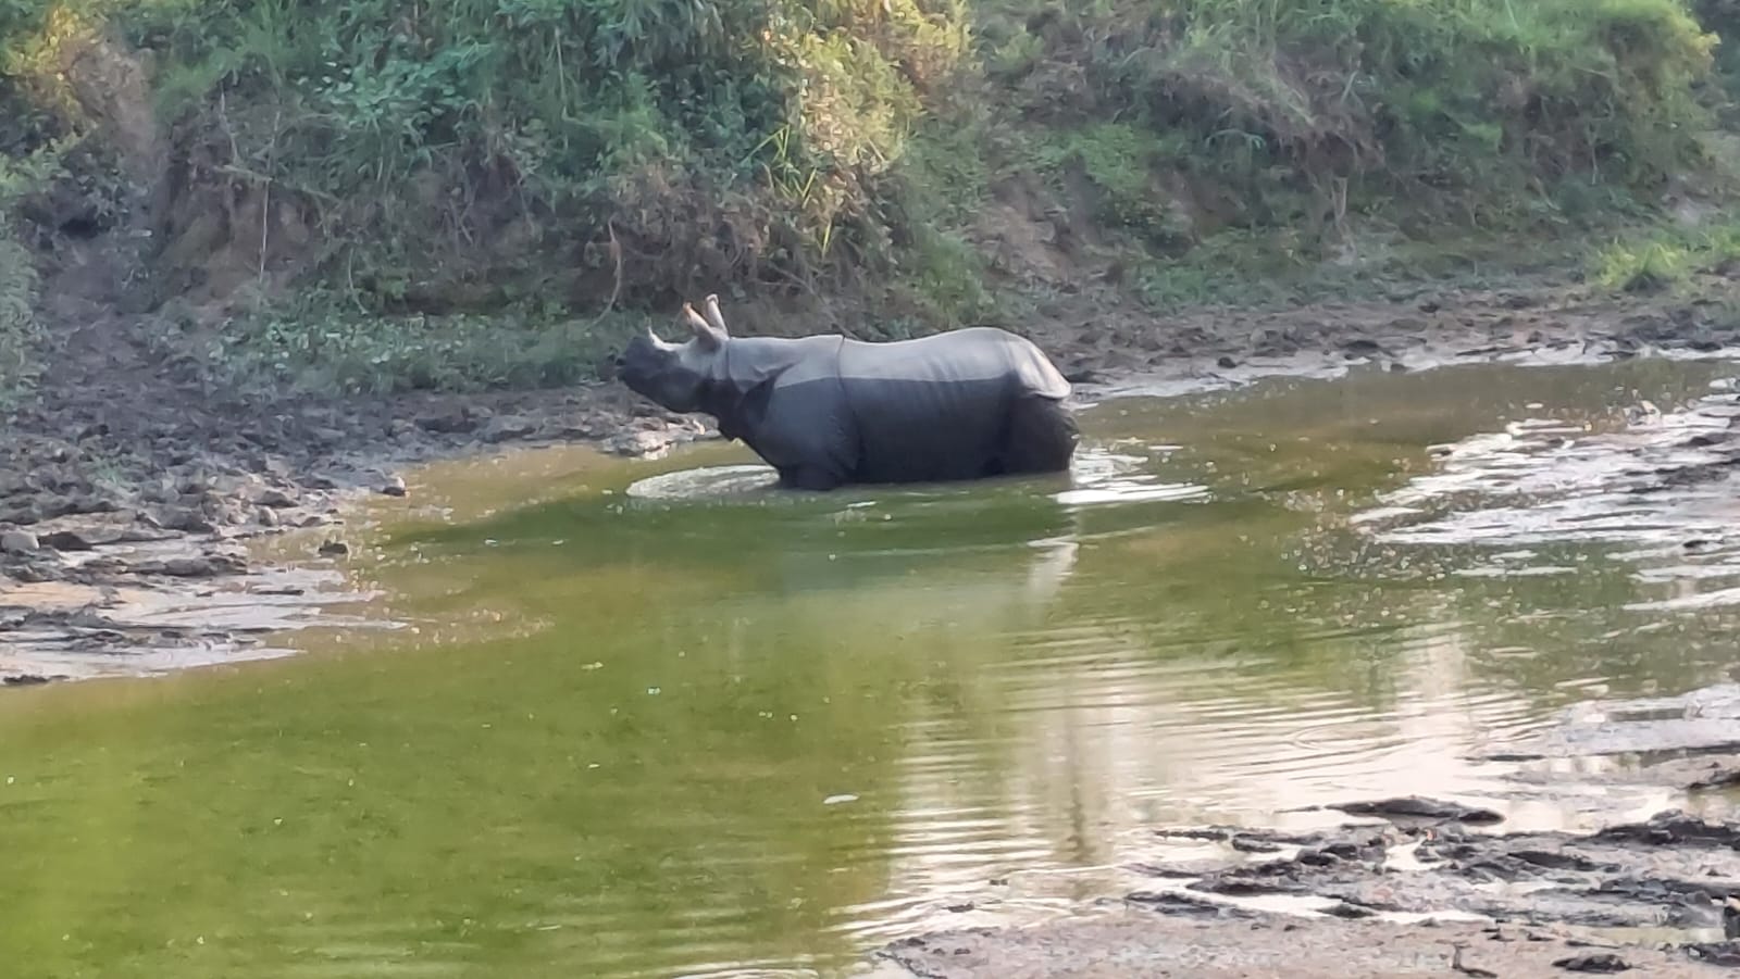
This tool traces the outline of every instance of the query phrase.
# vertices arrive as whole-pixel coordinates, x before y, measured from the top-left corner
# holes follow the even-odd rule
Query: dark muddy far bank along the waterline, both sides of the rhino
[[[1709,299],[1594,297],[1576,285],[1415,289],[1385,301],[1204,311],[1154,322],[1079,294],[1018,325],[1086,400],[1124,381],[1201,390],[1265,374],[1413,370],[1482,358],[1556,362],[1717,351],[1730,285]],[[341,504],[404,494],[397,470],[508,445],[586,442],[621,454],[713,438],[619,384],[494,395],[327,400],[212,390],[139,337],[157,323],[64,292],[35,400],[0,435],[0,680],[141,673],[271,656],[282,628],[358,596]],[[753,327],[745,325],[743,332]],[[320,527],[331,530],[320,532]],[[306,529],[306,560],[252,567],[244,543]]]

